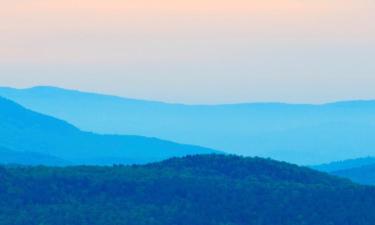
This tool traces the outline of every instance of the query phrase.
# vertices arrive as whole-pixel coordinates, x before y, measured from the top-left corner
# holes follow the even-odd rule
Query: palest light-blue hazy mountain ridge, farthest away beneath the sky
[[[375,101],[182,105],[53,87],[1,88],[0,95],[99,133],[152,136],[300,164],[375,155]]]

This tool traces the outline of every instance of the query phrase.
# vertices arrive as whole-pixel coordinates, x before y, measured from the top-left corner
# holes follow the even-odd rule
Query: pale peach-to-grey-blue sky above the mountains
[[[191,104],[375,99],[373,0],[0,3],[0,86]]]

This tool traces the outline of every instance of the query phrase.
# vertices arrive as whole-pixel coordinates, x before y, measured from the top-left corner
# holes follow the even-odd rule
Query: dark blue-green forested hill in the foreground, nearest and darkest
[[[2,225],[373,225],[375,189],[260,158],[0,169]]]

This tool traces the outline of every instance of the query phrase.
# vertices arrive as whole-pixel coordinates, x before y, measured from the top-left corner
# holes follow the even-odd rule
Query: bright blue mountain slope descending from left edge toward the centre
[[[72,163],[144,163],[211,149],[140,136],[97,135],[0,98],[0,146]]]

